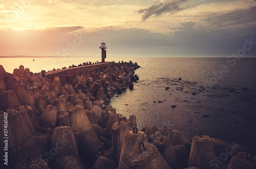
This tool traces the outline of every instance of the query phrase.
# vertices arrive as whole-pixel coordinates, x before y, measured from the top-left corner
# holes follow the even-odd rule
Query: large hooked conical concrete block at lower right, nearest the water
[[[192,139],[188,166],[196,166],[200,169],[214,168],[210,162],[216,157],[214,144],[209,136],[200,135]]]

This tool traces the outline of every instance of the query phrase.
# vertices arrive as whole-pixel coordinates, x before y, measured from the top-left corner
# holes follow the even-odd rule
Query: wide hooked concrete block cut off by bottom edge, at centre
[[[127,162],[133,169],[170,169],[156,146],[147,143],[134,147],[127,156]]]

